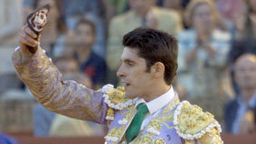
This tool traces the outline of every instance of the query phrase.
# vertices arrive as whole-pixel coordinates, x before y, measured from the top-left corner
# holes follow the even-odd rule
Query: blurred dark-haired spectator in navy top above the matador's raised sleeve
[[[88,20],[81,19],[75,30],[67,37],[66,49],[77,59],[82,73],[91,77],[93,88],[98,89],[106,82],[107,64],[103,58],[92,50],[95,41],[95,26]]]

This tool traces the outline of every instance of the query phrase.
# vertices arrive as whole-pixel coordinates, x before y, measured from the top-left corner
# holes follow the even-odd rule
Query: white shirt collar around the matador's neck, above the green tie
[[[143,98],[137,100],[136,107],[139,103],[146,103],[147,109],[150,114],[158,111],[159,109],[166,106],[167,103],[171,102],[175,97],[175,91],[173,86],[165,93],[157,97],[156,99],[146,102]]]

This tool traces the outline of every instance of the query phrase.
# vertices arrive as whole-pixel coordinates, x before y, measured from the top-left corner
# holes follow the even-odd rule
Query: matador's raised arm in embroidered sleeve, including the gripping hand
[[[13,56],[18,75],[39,103],[52,112],[72,118],[106,123],[108,109],[103,94],[74,81],[63,81],[62,74],[52,64],[44,50],[34,40],[37,34],[28,26],[20,32],[20,48]],[[35,53],[28,49],[32,47]]]

